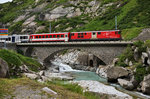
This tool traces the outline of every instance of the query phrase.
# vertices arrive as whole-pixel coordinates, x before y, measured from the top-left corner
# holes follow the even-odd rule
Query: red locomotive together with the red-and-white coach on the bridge
[[[30,42],[121,40],[120,30],[31,34]]]

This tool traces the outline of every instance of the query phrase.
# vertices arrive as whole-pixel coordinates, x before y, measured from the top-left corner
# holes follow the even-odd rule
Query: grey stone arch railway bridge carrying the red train
[[[108,65],[123,52],[127,45],[131,44],[133,43],[125,41],[18,43],[17,49],[23,51],[27,56],[37,57],[40,62],[66,49],[81,49],[97,56]]]

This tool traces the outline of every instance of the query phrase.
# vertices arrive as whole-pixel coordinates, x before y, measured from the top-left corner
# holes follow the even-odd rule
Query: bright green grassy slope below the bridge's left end
[[[23,64],[27,65],[28,68],[33,71],[38,71],[41,68],[41,64],[34,59],[10,50],[0,49],[0,57],[8,63],[10,69],[14,66],[19,67]]]

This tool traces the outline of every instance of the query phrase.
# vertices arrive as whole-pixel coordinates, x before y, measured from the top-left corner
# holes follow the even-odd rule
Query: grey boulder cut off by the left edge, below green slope
[[[0,58],[0,78],[9,77],[9,68],[6,61]]]

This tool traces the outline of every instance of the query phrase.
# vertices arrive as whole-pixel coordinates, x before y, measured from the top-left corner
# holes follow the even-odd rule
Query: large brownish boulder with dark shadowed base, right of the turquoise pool
[[[116,82],[118,78],[128,77],[129,71],[123,67],[109,67],[106,74],[109,82]]]

